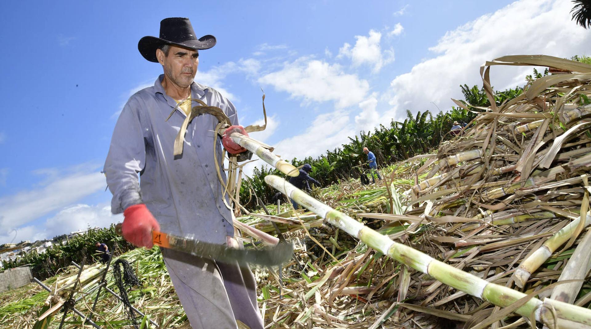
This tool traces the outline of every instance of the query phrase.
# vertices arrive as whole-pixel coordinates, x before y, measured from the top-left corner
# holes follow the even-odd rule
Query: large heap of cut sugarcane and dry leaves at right
[[[501,64],[566,73],[538,78],[498,105],[489,67]],[[492,106],[457,101],[479,112],[476,119],[428,157],[404,195],[387,189],[405,212],[391,206],[355,211],[354,219],[267,176],[360,241],[344,255],[307,262],[287,279],[294,284],[263,285],[270,327],[591,328],[582,308],[591,302],[591,66],[508,56],[487,62],[482,75]],[[385,225],[376,232],[360,218]]]

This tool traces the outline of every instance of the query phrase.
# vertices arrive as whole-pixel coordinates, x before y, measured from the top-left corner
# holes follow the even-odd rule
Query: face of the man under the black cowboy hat
[[[199,65],[199,52],[171,45],[168,56],[158,49],[156,57],[172,83],[181,88],[187,88],[193,83]]]

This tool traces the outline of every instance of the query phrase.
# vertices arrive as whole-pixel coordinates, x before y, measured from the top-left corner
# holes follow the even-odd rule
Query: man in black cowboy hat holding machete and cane
[[[234,105],[215,89],[193,81],[199,50],[215,44],[212,35],[197,39],[187,18],[163,19],[160,38],[139,41],[142,56],[159,62],[164,74],[125,104],[104,169],[113,193],[111,210],[124,213],[122,233],[134,245],[152,248],[151,231],[160,228],[200,241],[235,244],[233,213],[226,206],[216,166],[224,180],[225,175],[214,160],[214,153],[222,159],[222,146],[214,133],[217,118],[201,114],[191,120],[183,153],[173,154],[174,139],[191,107],[198,104],[183,103],[187,98],[219,107],[234,125],[232,131],[243,131]],[[231,140],[222,143],[229,153],[242,150]],[[248,267],[170,249],[162,249],[162,254],[191,327],[236,328],[238,323],[263,327],[256,282]]]

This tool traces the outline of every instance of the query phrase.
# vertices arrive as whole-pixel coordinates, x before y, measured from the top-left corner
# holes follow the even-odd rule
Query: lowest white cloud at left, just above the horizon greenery
[[[111,206],[106,203],[100,205],[72,205],[61,209],[55,216],[47,219],[43,225],[22,226],[0,234],[0,244],[24,240],[51,239],[57,235],[80,231],[89,227],[108,227],[112,223],[121,221],[123,221],[123,216],[121,214],[113,215]]]

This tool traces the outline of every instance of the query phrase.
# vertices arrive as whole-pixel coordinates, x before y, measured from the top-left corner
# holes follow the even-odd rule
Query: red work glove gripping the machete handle
[[[127,207],[123,212],[125,219],[121,226],[123,237],[136,246],[151,249],[152,231],[160,231],[160,225],[144,203]]]

